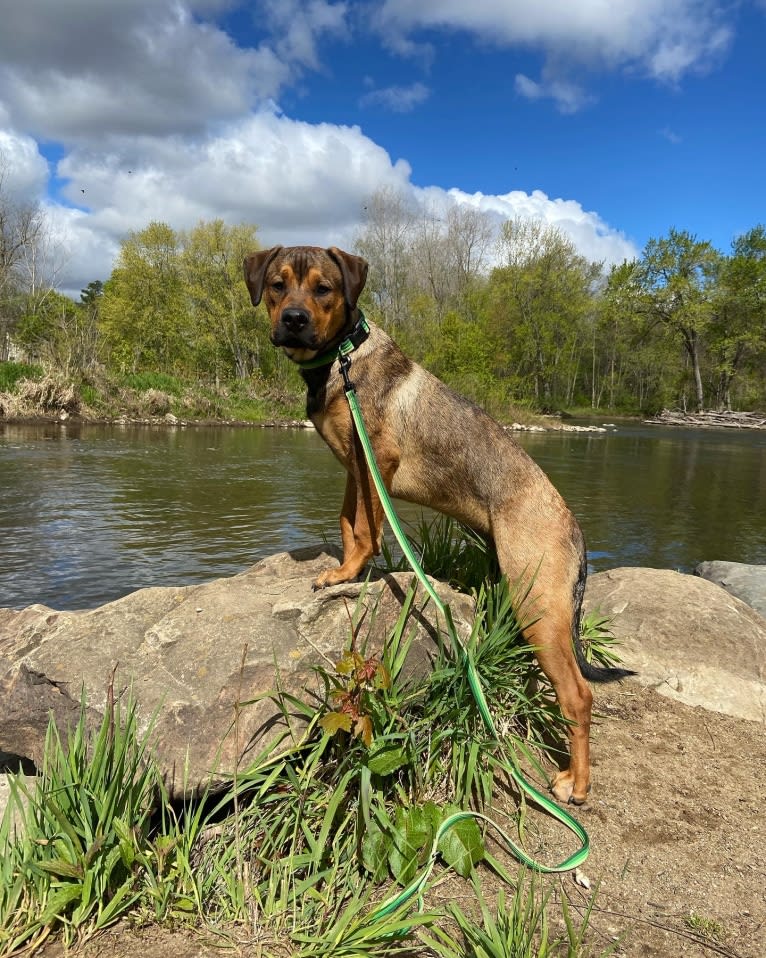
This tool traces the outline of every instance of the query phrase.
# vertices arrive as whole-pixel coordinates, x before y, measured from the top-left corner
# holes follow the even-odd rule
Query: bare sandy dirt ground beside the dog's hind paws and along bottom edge
[[[681,705],[633,682],[595,691],[593,792],[577,812],[591,840],[581,869],[591,889],[571,874],[547,879],[554,898],[565,892],[580,911],[598,887],[583,955],[598,956],[619,938],[613,954],[622,958],[763,958],[763,726]],[[542,814],[530,818],[531,851],[539,844],[553,862],[573,850],[561,826]],[[465,899],[469,892],[464,888]],[[211,958],[226,954],[222,944],[211,935],[117,928],[76,955]],[[261,954],[246,942],[230,947],[243,958]],[[49,943],[42,954],[63,952]]]

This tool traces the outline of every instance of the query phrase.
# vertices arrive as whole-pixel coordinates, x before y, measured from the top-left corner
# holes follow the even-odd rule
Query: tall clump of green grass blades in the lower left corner
[[[91,741],[81,702],[66,745],[51,719],[42,769],[27,788],[11,779],[0,826],[0,952],[54,928],[87,937],[139,897],[134,865],[147,841],[160,779],[146,762],[135,703],[111,701]]]

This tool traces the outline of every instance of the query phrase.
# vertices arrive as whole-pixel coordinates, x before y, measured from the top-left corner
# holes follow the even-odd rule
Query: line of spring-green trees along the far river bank
[[[43,239],[39,210],[13,208],[0,191],[0,361],[37,362],[86,383],[153,373],[300,391],[242,281],[255,226],[150,223],[125,237],[111,276],[79,302],[56,292],[53,277],[46,283]],[[370,318],[499,416],[511,403],[766,405],[764,226],[737,237],[729,254],[672,229],[607,270],[541,222],[498,230],[472,208],[437,214],[381,191],[366,204],[356,251],[370,262]]]

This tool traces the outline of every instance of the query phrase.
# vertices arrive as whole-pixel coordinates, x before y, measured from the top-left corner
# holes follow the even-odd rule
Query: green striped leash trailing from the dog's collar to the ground
[[[407,536],[405,535],[402,527],[399,523],[399,518],[394,511],[393,505],[391,504],[391,499],[388,495],[388,490],[385,487],[383,482],[383,477],[380,474],[378,464],[375,460],[375,453],[372,449],[372,444],[370,442],[370,437],[367,434],[367,430],[364,425],[364,419],[362,417],[361,410],[359,409],[359,403],[357,401],[356,390],[354,384],[351,382],[349,376],[349,368],[351,366],[351,360],[349,359],[349,353],[353,351],[353,346],[349,349],[344,350],[345,343],[341,345],[337,353],[337,358],[340,359],[341,373],[343,374],[344,389],[346,394],[346,399],[348,401],[349,409],[351,411],[351,417],[354,421],[354,426],[356,428],[357,435],[360,442],[362,443],[362,448],[364,450],[364,455],[367,460],[367,465],[372,475],[372,480],[375,485],[375,489],[380,498],[381,504],[383,506],[383,511],[388,519],[388,523],[391,526],[391,529],[396,536],[399,545],[401,546],[402,552],[404,553],[407,561],[412,567],[413,572],[418,578],[418,581],[422,584],[423,588],[428,593],[429,597],[433,601],[434,605],[438,611],[444,616],[444,620],[447,625],[447,631],[449,633],[450,642],[452,644],[453,651],[463,662],[466,673],[468,676],[468,682],[473,692],[474,699],[479,708],[479,712],[484,721],[485,726],[489,733],[499,741],[500,736],[497,733],[495,723],[492,719],[492,715],[489,711],[489,706],[487,705],[487,700],[484,696],[484,690],[481,687],[481,681],[479,679],[478,673],[474,662],[470,656],[469,651],[461,642],[457,630],[455,629],[455,623],[452,619],[452,612],[449,605],[442,602],[438,593],[434,587],[429,582],[426,577],[425,572],[423,571],[420,562],[418,561],[417,556],[415,555],[412,546],[410,545]],[[513,840],[499,828],[499,826],[493,822],[491,819],[487,818],[484,815],[481,815],[477,812],[456,812],[454,815],[448,816],[439,826],[436,835],[434,836],[433,844],[431,847],[431,853],[429,856],[428,864],[426,870],[418,878],[416,878],[410,885],[404,888],[399,894],[395,897],[383,902],[382,905],[375,911],[375,918],[382,918],[385,915],[390,914],[392,911],[395,911],[400,905],[408,901],[413,895],[420,894],[430,877],[430,874],[433,870],[433,866],[436,862],[437,857],[437,848],[439,841],[446,831],[448,831],[453,825],[457,824],[460,821],[463,821],[466,818],[479,818],[493,828],[495,828],[503,840],[506,842],[512,853],[519,859],[522,864],[526,865],[528,868],[531,868],[537,872],[551,874],[557,872],[570,871],[573,868],[577,868],[581,865],[585,859],[588,857],[588,852],[590,850],[590,839],[588,838],[588,833],[585,831],[583,826],[573,818],[564,808],[557,805],[554,801],[549,799],[546,795],[543,795],[538,791],[533,785],[531,785],[521,774],[518,767],[514,764],[501,763],[504,769],[511,776],[513,781],[518,785],[523,793],[528,795],[533,799],[538,805],[540,805],[545,811],[551,814],[554,818],[560,821],[565,825],[570,831],[572,831],[581,843],[581,847],[572,855],[569,856],[565,861],[561,862],[559,865],[542,865],[539,862],[536,862],[533,858],[530,858],[526,852],[516,845]]]

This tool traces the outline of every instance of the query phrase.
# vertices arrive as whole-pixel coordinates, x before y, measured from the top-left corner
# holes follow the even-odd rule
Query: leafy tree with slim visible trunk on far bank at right
[[[720,255],[709,242],[671,229],[666,238],[649,240],[637,271],[643,315],[650,326],[665,326],[683,344],[699,411],[705,406],[702,348],[713,317],[719,266]]]

